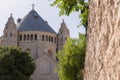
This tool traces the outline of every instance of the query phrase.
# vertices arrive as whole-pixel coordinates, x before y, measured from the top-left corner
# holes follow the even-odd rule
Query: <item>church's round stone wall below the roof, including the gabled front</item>
[[[20,35],[22,35],[21,39]],[[24,35],[26,35],[26,37]],[[27,35],[29,35],[29,39],[27,39]],[[33,38],[31,38],[31,35],[33,35]],[[35,35],[37,35],[36,40]],[[46,36],[48,36],[48,38],[46,38]],[[19,32],[19,47],[24,51],[29,51],[35,58],[36,69],[30,80],[58,80],[55,72],[57,66],[56,36],[54,33],[42,31]]]

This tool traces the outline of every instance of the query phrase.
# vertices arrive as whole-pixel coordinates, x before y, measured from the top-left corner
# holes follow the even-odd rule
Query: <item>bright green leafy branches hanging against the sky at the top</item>
[[[87,28],[88,2],[85,0],[55,0],[51,5],[60,8],[59,15],[69,15],[72,12],[80,12],[80,24]]]

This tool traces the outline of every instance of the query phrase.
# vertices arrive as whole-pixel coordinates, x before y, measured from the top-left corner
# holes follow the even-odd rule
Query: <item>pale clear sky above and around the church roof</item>
[[[72,38],[77,38],[78,33],[84,33],[85,29],[83,27],[77,28],[80,22],[78,18],[79,13],[72,13],[70,16],[59,16],[59,9],[56,7],[51,7],[50,3],[53,0],[0,0],[0,36],[3,34],[3,29],[5,24],[10,17],[10,13],[13,13],[14,20],[24,18],[29,11],[31,11],[31,4],[35,4],[35,10],[38,14],[46,21],[48,24],[58,32],[62,19],[70,30],[70,35]]]

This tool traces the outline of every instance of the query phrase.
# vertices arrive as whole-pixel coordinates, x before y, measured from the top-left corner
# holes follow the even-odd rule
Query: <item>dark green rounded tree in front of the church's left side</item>
[[[29,80],[35,63],[28,52],[17,47],[0,47],[0,80]]]

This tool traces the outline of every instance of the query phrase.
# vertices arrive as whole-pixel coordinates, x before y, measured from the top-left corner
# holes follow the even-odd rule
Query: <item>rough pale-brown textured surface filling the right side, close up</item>
[[[90,0],[84,80],[120,80],[120,0]]]

